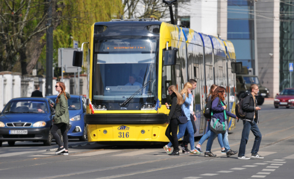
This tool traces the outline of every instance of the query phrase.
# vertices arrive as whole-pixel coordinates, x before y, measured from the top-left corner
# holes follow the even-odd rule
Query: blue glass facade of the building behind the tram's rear
[[[237,62],[255,71],[253,1],[228,0],[227,39],[234,44]],[[251,13],[251,14],[250,14]]]

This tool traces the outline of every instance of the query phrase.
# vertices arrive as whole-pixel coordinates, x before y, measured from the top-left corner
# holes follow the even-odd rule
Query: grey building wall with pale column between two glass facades
[[[278,0],[256,2],[258,76],[271,98],[279,92],[279,7]]]

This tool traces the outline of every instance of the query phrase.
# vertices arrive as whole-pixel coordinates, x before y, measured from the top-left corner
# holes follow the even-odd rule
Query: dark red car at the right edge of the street
[[[294,88],[286,88],[274,99],[274,107],[286,107],[294,106]]]

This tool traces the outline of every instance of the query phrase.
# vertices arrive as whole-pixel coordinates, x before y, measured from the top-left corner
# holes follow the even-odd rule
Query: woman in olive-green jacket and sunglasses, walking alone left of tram
[[[59,148],[55,152],[55,154],[63,154],[68,155],[69,146],[68,146],[68,136],[67,136],[67,127],[70,124],[70,115],[68,109],[68,99],[71,96],[65,92],[65,85],[63,82],[58,81],[55,85],[55,90],[59,92],[56,98],[56,104],[53,105],[51,103],[51,107],[56,109],[55,117],[54,117],[54,124],[51,128],[51,134],[54,136]],[[56,133],[57,130],[60,128],[61,134],[63,136],[63,143],[59,135]]]

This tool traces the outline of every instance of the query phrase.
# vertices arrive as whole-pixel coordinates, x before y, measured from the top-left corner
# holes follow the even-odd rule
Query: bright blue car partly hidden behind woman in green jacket
[[[47,96],[54,103],[57,95]],[[86,141],[87,128],[84,123],[84,115],[86,114],[86,98],[78,95],[71,95],[68,99],[68,109],[70,113],[70,125],[68,131],[69,138],[78,138],[80,141]]]

